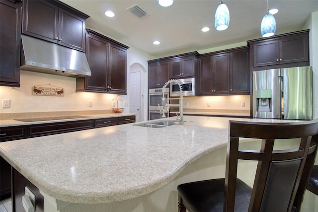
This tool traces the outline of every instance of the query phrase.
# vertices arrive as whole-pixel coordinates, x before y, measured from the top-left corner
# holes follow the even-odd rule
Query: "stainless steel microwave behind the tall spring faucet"
[[[183,96],[195,96],[195,80],[194,78],[177,79],[182,87]],[[179,97],[179,86],[177,83],[170,84],[170,97]]]

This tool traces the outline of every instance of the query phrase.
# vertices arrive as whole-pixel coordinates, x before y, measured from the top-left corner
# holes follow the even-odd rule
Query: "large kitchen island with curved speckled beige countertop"
[[[48,212],[176,212],[177,185],[224,177],[230,119],[251,120],[184,116],[184,125],[162,128],[116,125],[1,142],[0,155],[39,188]]]

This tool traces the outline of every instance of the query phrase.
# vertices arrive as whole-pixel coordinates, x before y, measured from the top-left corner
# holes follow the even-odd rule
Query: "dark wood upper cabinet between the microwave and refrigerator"
[[[198,95],[249,94],[248,47],[203,54]]]

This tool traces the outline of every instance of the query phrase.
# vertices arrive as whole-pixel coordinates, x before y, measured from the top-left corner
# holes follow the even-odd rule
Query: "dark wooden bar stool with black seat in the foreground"
[[[239,149],[240,138],[261,139],[261,148]],[[292,138],[300,138],[297,148],[273,150],[276,139]],[[179,185],[179,212],[299,211],[317,143],[317,119],[294,123],[229,121],[225,178]],[[258,161],[252,188],[237,178],[239,159]]]

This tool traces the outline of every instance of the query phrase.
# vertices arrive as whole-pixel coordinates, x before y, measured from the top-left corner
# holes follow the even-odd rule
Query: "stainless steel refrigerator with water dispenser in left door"
[[[253,117],[313,119],[311,66],[253,72]]]

